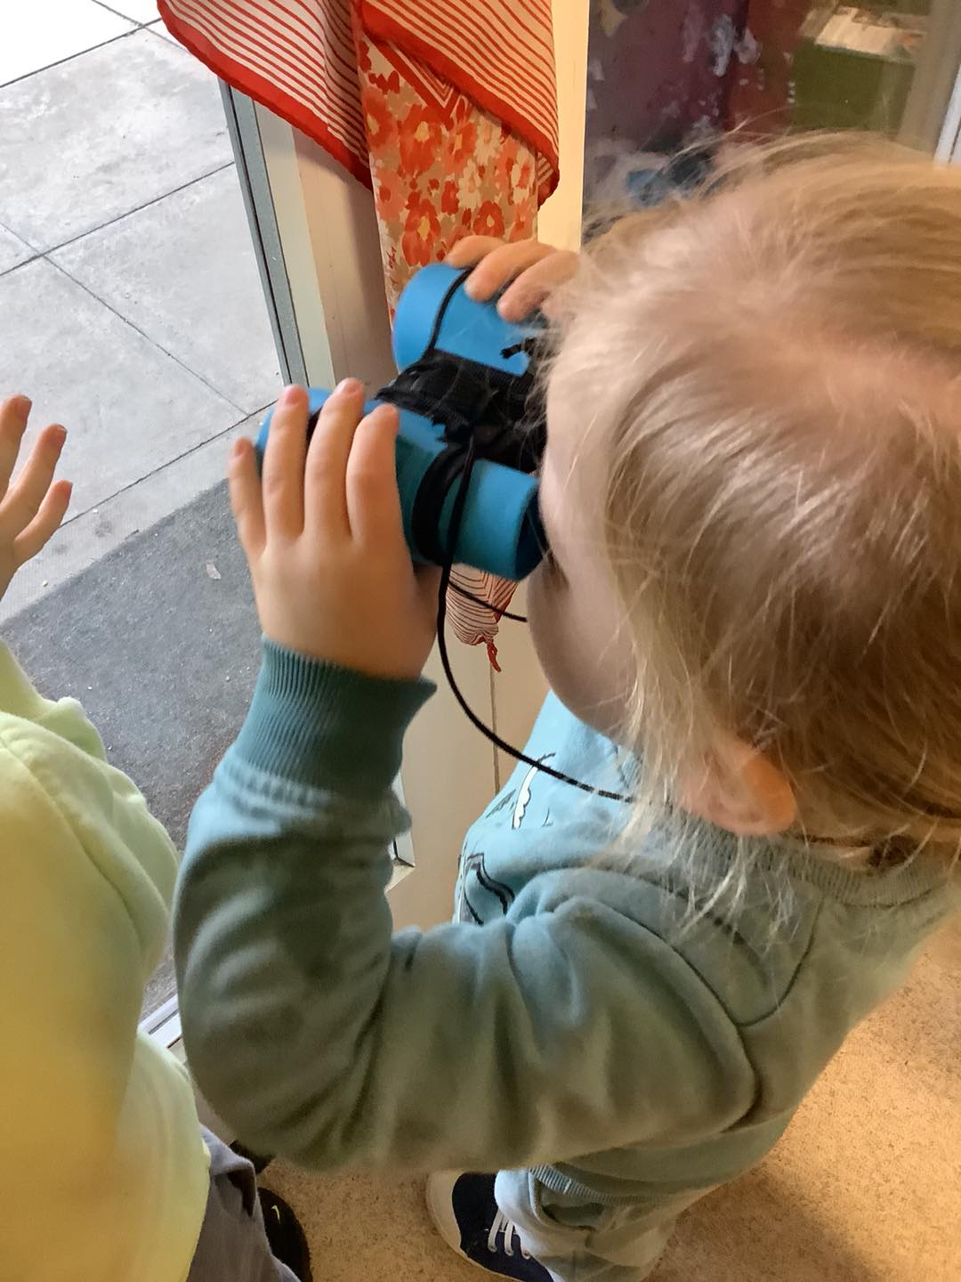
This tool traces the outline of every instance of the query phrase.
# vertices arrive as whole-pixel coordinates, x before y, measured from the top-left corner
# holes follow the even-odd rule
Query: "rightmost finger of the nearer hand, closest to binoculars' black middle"
[[[397,490],[398,418],[392,405],[379,405],[354,433],[347,462],[347,517],[354,538],[372,551],[404,538]]]

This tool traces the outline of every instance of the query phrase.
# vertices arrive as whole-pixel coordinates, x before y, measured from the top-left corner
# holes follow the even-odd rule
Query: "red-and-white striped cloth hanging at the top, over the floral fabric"
[[[557,183],[551,0],[159,0],[170,33],[218,76],[313,137],[370,186],[355,29],[443,112],[450,88],[537,153]]]

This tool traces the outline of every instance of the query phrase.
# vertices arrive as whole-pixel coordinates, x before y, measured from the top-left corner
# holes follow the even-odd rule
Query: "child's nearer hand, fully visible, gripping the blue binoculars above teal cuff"
[[[306,446],[308,397],[287,387],[270,422],[263,483],[237,441],[231,503],[264,636],[373,677],[418,677],[436,633],[436,570],[415,570],[395,469],[397,412],[364,418],[349,379]]]

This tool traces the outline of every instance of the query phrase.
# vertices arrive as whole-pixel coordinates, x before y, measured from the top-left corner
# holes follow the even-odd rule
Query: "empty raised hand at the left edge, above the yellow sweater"
[[[59,424],[44,428],[10,485],[29,410],[26,396],[10,396],[0,404],[0,596],[21,565],[56,531],[70,501],[70,482],[54,481],[67,440]]]

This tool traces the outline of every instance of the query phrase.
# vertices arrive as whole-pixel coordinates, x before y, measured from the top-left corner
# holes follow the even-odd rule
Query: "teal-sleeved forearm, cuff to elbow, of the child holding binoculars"
[[[390,846],[409,823],[392,785],[432,690],[265,644],[193,810],[174,906],[185,1041],[211,1103],[270,1151],[323,1163],[361,1070],[391,964]]]

